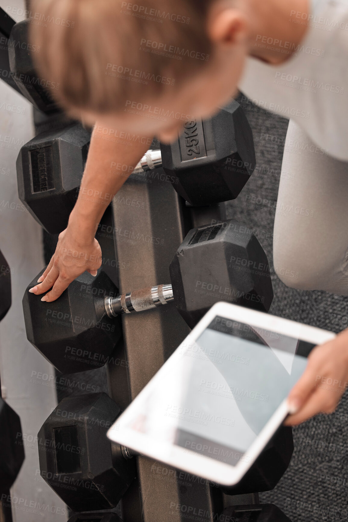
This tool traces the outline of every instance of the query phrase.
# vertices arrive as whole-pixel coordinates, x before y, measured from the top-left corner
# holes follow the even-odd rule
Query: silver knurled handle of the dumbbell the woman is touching
[[[109,317],[117,317],[119,314],[130,314],[131,312],[143,312],[151,308],[157,308],[162,304],[174,301],[173,288],[171,284],[160,284],[157,287],[142,288],[119,295],[116,298],[105,298],[105,310]]]

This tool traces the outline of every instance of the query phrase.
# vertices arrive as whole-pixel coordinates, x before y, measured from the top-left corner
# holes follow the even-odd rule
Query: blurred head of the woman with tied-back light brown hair
[[[138,121],[150,134],[169,136],[182,117],[207,116],[233,96],[247,52],[237,4],[35,0],[35,64],[59,84],[55,97],[71,114],[130,127]]]

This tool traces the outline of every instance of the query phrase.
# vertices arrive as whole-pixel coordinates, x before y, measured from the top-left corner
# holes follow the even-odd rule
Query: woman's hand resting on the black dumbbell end
[[[59,234],[56,251],[38,280],[40,284],[31,288],[29,292],[41,295],[53,287],[41,299],[50,303],[58,299],[69,284],[83,272],[88,271],[92,276],[96,276],[101,264],[102,252],[98,241],[93,236],[82,239],[81,234],[75,234],[68,226]]]

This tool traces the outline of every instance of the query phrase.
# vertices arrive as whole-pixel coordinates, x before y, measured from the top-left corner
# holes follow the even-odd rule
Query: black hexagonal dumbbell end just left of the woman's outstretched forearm
[[[71,123],[35,136],[20,149],[17,158],[19,199],[50,234],[58,234],[67,227],[89,143],[90,133],[80,123]]]

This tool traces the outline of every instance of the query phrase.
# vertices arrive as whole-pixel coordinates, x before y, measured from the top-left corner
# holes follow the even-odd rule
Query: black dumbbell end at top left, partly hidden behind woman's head
[[[15,23],[8,42],[8,55],[11,73],[23,94],[34,107],[46,113],[57,112],[58,106],[51,93],[59,86],[53,85],[47,78],[38,78],[32,61],[31,52],[39,52],[29,44],[29,20]]]

